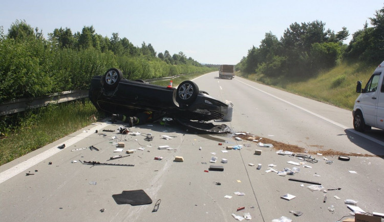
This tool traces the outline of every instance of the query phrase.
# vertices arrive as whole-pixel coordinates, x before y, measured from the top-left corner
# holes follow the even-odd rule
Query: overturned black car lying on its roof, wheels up
[[[190,127],[202,123],[197,128],[203,130],[214,126],[204,125],[203,121],[222,120],[228,113],[226,103],[199,91],[193,81],[183,81],[177,88],[159,86],[143,80],[127,80],[115,68],[92,78],[89,98],[97,109],[107,114],[132,116],[137,110],[151,110]]]

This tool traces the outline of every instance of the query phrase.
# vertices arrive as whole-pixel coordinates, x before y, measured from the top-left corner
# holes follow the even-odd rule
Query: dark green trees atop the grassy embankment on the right
[[[268,77],[312,77],[319,71],[332,68],[338,61],[363,61],[378,64],[384,59],[384,7],[369,18],[361,30],[349,36],[346,27],[335,33],[325,23],[293,23],[278,39],[271,32],[265,34],[261,45],[248,50],[236,65],[244,73]]]

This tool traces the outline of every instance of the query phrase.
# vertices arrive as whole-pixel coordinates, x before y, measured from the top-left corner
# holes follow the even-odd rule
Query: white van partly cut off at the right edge
[[[361,93],[353,107],[353,128],[356,131],[376,127],[384,129],[384,61],[376,68],[365,88],[357,82],[356,92]]]

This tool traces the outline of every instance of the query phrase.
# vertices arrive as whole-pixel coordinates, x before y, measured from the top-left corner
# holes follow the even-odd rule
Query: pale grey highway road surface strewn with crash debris
[[[319,154],[347,153],[350,160],[340,161],[337,155],[313,155],[317,163],[304,161],[279,155],[274,148],[259,147],[257,142],[235,140],[232,134],[195,134],[170,123],[132,127],[131,132],[141,134],[133,136],[118,132],[118,127],[124,126],[122,122],[97,122],[0,166],[1,220],[238,221],[232,214],[249,213],[251,221],[282,216],[292,221],[338,221],[350,215],[344,203],[347,199],[356,201],[355,206],[366,212],[384,213],[384,161],[377,157],[384,155],[384,130],[357,133],[350,110],[240,77],[219,79],[218,72],[213,72],[194,81],[200,90],[233,104],[232,121],[215,124],[227,124],[234,132],[249,132],[257,138]],[[153,136],[152,141],[145,140],[147,134]],[[162,139],[162,135],[173,139]],[[119,148],[117,142],[125,144],[123,152],[114,152]],[[59,149],[62,144],[66,147]],[[92,145],[99,151],[91,150]],[[164,145],[173,150],[158,149]],[[226,149],[234,145],[243,147]],[[135,151],[126,154],[128,149]],[[255,150],[261,150],[261,155],[255,155]],[[116,155],[130,156],[107,161]],[[176,156],[183,157],[184,162],[175,162]],[[218,161],[209,163],[211,157]],[[222,159],[227,163],[221,163]],[[325,159],[333,162],[327,164]],[[94,166],[80,161],[123,166]],[[277,171],[299,167],[300,172],[285,176],[266,172],[269,164],[275,165]],[[210,171],[210,165],[223,166],[224,171]],[[312,184],[303,181],[330,190],[311,191],[307,187]],[[135,190],[143,190],[152,204],[117,204],[113,198]],[[281,198],[285,194],[295,198]],[[156,203],[160,204],[153,212]],[[332,212],[328,210],[331,206]],[[303,214],[295,216],[290,211]]]

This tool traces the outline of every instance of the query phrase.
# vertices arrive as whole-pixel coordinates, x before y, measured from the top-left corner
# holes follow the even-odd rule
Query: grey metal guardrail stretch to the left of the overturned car
[[[88,97],[88,90],[65,91],[40,98],[15,99],[0,104],[0,116],[23,112],[30,108],[38,108],[61,102]]]

